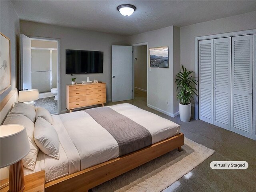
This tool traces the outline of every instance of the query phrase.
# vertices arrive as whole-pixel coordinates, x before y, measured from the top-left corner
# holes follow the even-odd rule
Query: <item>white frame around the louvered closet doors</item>
[[[216,39],[216,38],[224,38],[224,37],[234,37],[234,36],[242,36],[242,35],[250,35],[250,34],[256,34],[256,29],[195,37],[195,78],[198,78],[198,76],[199,76],[199,41],[200,40]],[[198,90],[198,84],[195,85],[195,88]],[[198,103],[199,95],[194,97],[194,101],[195,101],[194,119],[198,120],[198,117],[199,117],[199,103]]]

